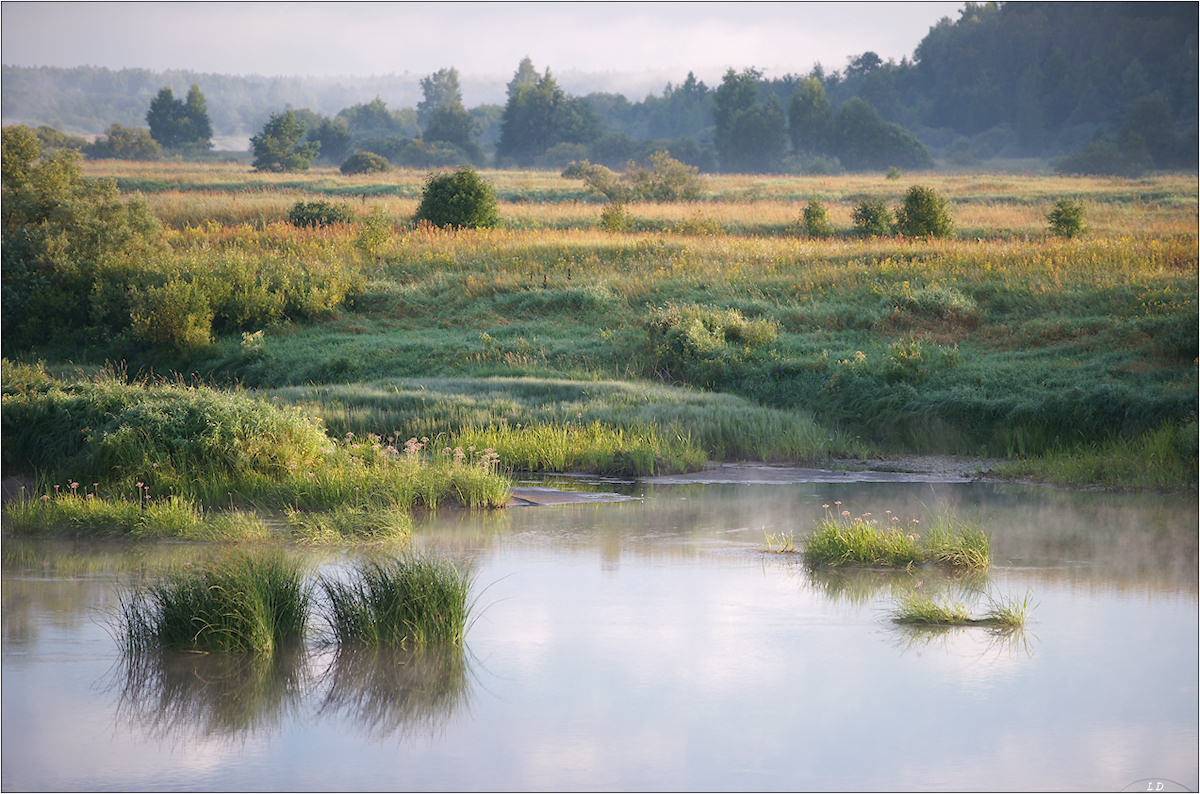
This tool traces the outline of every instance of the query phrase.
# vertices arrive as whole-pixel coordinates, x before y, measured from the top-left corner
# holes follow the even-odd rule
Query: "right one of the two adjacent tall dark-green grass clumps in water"
[[[322,577],[334,639],[346,645],[458,645],[469,573],[434,557],[361,561],[348,582]]]

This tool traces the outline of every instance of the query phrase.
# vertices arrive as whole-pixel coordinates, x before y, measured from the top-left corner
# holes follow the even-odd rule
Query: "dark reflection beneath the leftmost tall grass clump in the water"
[[[119,722],[152,736],[245,739],[295,715],[311,679],[302,648],[270,656],[146,651],[119,663]]]

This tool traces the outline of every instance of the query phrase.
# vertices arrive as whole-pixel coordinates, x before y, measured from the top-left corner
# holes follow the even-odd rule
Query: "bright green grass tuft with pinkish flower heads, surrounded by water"
[[[950,513],[934,519],[925,537],[918,533],[920,519],[904,527],[899,516],[886,511],[884,522],[871,513],[851,516],[848,510],[835,513],[841,503],[817,523],[816,531],[804,542],[804,559],[810,565],[908,567],[922,564],[956,570],[985,570],[991,561],[988,535]]]

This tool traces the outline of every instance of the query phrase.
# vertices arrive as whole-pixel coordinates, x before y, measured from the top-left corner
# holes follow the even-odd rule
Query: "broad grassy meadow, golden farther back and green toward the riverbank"
[[[190,373],[340,438],[487,446],[502,468],[916,451],[1012,457],[1013,476],[1070,485],[1195,486],[1194,175],[710,176],[702,200],[632,204],[610,233],[602,201],[553,173],[484,172],[500,225],[444,231],[410,222],[418,172],[85,172],[140,193],[166,248],[139,266],[208,290],[211,330],[10,357]],[[949,199],[953,237],[851,234],[857,201],[895,206],[916,184]],[[378,207],[390,233],[288,225],[312,198]],[[835,236],[800,233],[811,198]],[[1048,234],[1060,198],[1082,201],[1082,237]]]

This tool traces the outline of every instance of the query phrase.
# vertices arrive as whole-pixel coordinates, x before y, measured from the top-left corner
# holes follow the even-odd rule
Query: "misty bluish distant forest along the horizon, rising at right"
[[[712,86],[689,73],[630,101],[569,96],[526,59],[505,104],[469,109],[452,68],[418,82],[4,66],[2,116],[95,134],[144,126],[160,89],[194,84],[218,148],[294,109],[332,163],[362,150],[415,166],[619,168],[667,150],[708,172],[916,169],[936,155],[1134,173],[1196,166],[1196,30],[1194,2],[967,4],[900,62],[866,52],[808,74],[730,70]]]

